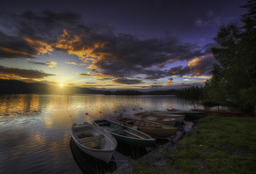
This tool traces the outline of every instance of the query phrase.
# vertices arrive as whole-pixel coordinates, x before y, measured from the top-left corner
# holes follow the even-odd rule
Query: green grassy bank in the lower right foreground
[[[256,173],[256,118],[211,116],[168,153],[173,163],[132,163],[136,173]]]

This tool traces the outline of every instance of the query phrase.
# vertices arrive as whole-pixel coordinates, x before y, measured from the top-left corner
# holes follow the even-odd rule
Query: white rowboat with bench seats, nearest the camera
[[[106,163],[109,163],[117,148],[117,140],[111,134],[88,122],[74,123],[71,134],[80,150]]]

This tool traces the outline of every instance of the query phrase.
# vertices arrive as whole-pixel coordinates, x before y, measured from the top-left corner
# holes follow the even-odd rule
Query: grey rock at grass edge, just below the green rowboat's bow
[[[172,161],[167,154],[160,150],[154,150],[146,156],[140,157],[138,163],[147,163],[150,166],[165,166],[172,163]]]

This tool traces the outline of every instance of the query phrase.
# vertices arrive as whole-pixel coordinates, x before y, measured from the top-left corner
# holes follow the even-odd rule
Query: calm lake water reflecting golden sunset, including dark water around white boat
[[[202,105],[175,96],[0,95],[0,173],[104,173],[129,159],[117,147],[108,164],[81,153],[71,141],[72,122],[112,119],[136,112]],[[125,154],[126,153],[126,154]],[[147,153],[139,149],[140,153]]]

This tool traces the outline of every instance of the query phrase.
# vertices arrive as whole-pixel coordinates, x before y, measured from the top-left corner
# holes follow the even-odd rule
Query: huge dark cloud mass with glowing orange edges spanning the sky
[[[207,72],[208,68],[200,66],[204,61],[193,66],[163,70],[170,63],[205,56],[207,47],[182,43],[171,34],[162,39],[142,40],[131,34],[114,33],[109,25],[85,25],[80,19],[78,14],[52,11],[26,11],[15,18],[8,16],[4,21],[14,29],[12,33],[0,32],[0,58],[33,58],[35,55],[62,50],[77,55],[94,76],[115,78],[114,83],[124,84],[155,81],[173,75],[199,76]],[[33,63],[55,66],[50,62]],[[66,63],[77,65],[75,62]],[[136,76],[143,76],[144,79],[132,79]]]

